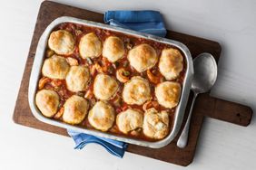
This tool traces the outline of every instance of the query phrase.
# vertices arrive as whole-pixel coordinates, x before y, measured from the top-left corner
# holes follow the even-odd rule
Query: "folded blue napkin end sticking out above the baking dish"
[[[158,11],[108,11],[104,14],[104,22],[156,36],[166,35],[162,14]]]

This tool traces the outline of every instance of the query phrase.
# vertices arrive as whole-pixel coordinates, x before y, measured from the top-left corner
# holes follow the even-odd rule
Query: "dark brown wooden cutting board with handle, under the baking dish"
[[[27,98],[28,82],[34,61],[34,53],[37,42],[41,34],[44,32],[46,26],[59,16],[74,16],[81,19],[103,23],[103,14],[98,14],[88,10],[79,9],[69,5],[62,5],[50,1],[44,1],[44,3],[42,3],[34,28],[34,36],[27,57],[23,80],[21,82],[18,98],[16,100],[14,121],[17,124],[21,124],[27,127],[34,127],[67,136],[66,130],[64,128],[54,127],[35,119],[29,108]],[[210,52],[215,57],[216,61],[219,60],[222,48],[218,42],[212,42],[211,40],[205,40],[202,38],[172,31],[168,31],[166,37],[172,40],[183,42],[185,45],[187,45],[192,53],[192,57],[197,56],[201,52]],[[184,118],[183,125],[187,118],[191,101],[192,95],[186,109],[186,116]],[[192,163],[192,159],[195,153],[197,139],[200,134],[203,118],[216,118],[237,125],[248,126],[251,122],[252,110],[249,107],[243,106],[241,104],[212,98],[209,96],[209,94],[203,94],[200,95],[196,100],[192,114],[189,142],[188,146],[184,149],[180,149],[176,146],[176,141],[179,137],[178,135],[168,146],[164,146],[159,149],[129,145],[127,151],[176,165],[189,165]]]

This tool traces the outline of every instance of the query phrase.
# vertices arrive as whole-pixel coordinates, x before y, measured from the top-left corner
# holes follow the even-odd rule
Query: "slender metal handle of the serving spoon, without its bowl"
[[[182,130],[182,135],[179,137],[178,142],[177,142],[177,146],[180,148],[184,148],[185,146],[187,146],[187,143],[188,143],[189,129],[190,129],[191,118],[192,118],[192,109],[193,109],[193,104],[194,104],[194,101],[195,101],[197,95],[198,95],[198,93],[193,92],[193,99],[192,99],[192,106],[190,109],[190,113],[187,118],[185,127]]]

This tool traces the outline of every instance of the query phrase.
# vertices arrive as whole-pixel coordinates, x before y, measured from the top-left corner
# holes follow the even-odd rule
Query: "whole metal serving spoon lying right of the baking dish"
[[[192,80],[193,99],[190,113],[179,137],[177,146],[184,148],[188,143],[189,127],[194,101],[198,94],[211,90],[217,79],[217,64],[211,53],[203,52],[193,60],[194,76]]]

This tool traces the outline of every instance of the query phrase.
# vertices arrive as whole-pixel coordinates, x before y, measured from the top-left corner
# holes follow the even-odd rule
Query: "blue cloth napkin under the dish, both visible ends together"
[[[166,35],[162,15],[157,11],[108,11],[104,14],[104,22],[161,37]],[[123,157],[127,148],[126,143],[117,140],[95,137],[70,129],[67,132],[74,139],[75,149],[82,149],[87,144],[94,143],[103,146],[113,156]]]

